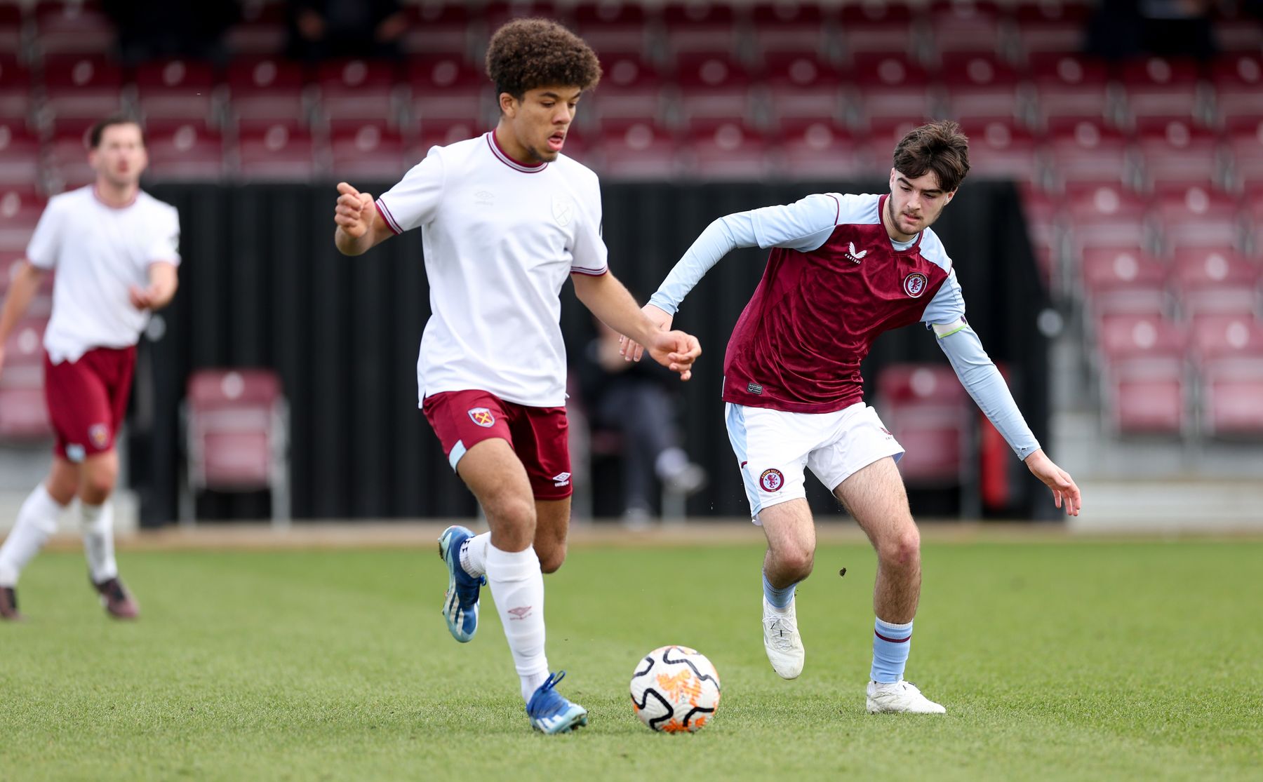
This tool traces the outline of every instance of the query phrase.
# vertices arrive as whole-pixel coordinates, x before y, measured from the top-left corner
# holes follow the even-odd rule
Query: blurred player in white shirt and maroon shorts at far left
[[[18,619],[14,591],[21,568],[57,529],[57,514],[78,496],[83,550],[93,586],[111,617],[138,606],[114,560],[119,474],[114,441],[128,409],[136,341],[149,312],[176,294],[179,216],[140,189],[144,131],[128,116],[97,123],[88,160],[96,182],[53,196],[39,217],[4,310],[4,340],[18,325],[44,275],[57,270],[53,315],[44,331],[44,395],[57,436],[48,479],[18,512],[0,547],[0,618]]]

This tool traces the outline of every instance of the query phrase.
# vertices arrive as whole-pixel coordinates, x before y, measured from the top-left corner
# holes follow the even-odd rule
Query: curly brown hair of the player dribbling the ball
[[[522,100],[537,87],[591,90],[601,80],[601,63],[591,47],[556,21],[515,19],[491,35],[486,75],[496,93]]]

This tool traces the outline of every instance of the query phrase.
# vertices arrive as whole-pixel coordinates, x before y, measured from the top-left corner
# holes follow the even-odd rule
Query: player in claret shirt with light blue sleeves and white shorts
[[[895,461],[903,447],[864,404],[860,361],[883,331],[922,322],[960,382],[1055,503],[1077,515],[1079,488],[1039,447],[1003,376],[965,320],[952,260],[930,229],[969,173],[956,123],[931,123],[894,149],[890,192],[821,193],[712,222],[644,307],[669,328],[685,296],[734,248],[772,249],[724,358],[729,438],[750,514],[768,538],[763,643],[784,678],[805,651],[794,585],[811,574],[810,469],[864,529],[878,556],[868,710],[941,714],[903,680],[921,596],[921,536]],[[626,359],[640,347],[628,335]]]

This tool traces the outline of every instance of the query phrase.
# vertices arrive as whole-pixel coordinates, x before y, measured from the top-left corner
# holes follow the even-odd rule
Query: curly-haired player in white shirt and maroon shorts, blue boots
[[[543,572],[566,558],[570,454],[560,293],[615,331],[649,340],[654,360],[691,376],[697,340],[658,331],[609,273],[596,174],[561,154],[578,99],[601,76],[592,51],[560,24],[523,19],[491,38],[495,130],[424,160],[374,201],[338,184],[335,243],[359,255],[419,227],[431,318],[417,361],[419,407],[486,513],[491,531],[450,527],[443,615],[467,642],[479,586],[491,587],[534,729],[563,733],[587,711],[557,692],[544,654]]]

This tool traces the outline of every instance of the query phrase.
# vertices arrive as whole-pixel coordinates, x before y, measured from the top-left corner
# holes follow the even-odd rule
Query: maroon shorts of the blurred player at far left
[[[128,412],[136,349],[95,347],[78,361],[53,364],[44,354],[44,399],[57,433],[54,452],[81,462],[114,448]]]

